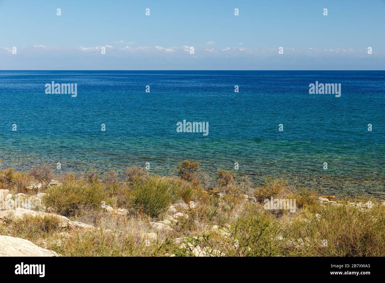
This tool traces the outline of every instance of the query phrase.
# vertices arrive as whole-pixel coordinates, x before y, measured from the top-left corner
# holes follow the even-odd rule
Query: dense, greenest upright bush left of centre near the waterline
[[[132,206],[139,213],[158,217],[170,206],[176,186],[167,178],[150,177],[146,181],[136,180],[133,183]]]

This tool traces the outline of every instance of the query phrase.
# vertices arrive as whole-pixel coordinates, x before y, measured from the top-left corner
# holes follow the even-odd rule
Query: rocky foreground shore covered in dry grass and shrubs
[[[0,254],[385,256],[383,201],[322,196],[284,179],[254,186],[226,170],[211,178],[199,164],[186,159],[175,176],[132,166],[124,181],[113,170],[2,169]]]

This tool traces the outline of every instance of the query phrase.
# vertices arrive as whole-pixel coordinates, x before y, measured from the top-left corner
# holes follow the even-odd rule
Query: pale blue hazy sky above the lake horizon
[[[57,8],[61,8],[61,16],[56,15]],[[146,8],[150,9],[150,16],[145,15]],[[234,8],[239,8],[239,16],[234,16]],[[327,16],[323,15],[323,8],[328,9]],[[97,59],[101,69],[130,69],[124,66],[132,63],[135,67],[140,60],[152,69],[207,69],[209,66],[202,63],[202,58],[209,60],[213,69],[383,69],[385,62],[385,0],[0,0],[0,30],[0,47],[8,51],[0,50],[0,60],[7,57],[0,69],[39,67],[28,63],[31,56],[36,56],[40,66],[47,69],[48,60],[44,52],[33,50],[39,48],[36,46],[45,48],[50,59],[73,60],[74,68],[80,69],[79,60],[85,60],[84,69],[97,69],[97,66],[87,62],[91,52],[82,55],[77,52],[79,48],[101,46],[114,50],[104,55],[116,61],[114,67],[112,62]],[[126,46],[131,53],[123,55],[117,51]],[[195,56],[178,65],[175,61],[183,59],[179,55],[190,55],[189,52],[175,55],[183,46],[194,46]],[[281,46],[287,56],[281,56],[275,63],[273,56]],[[369,46],[373,54],[365,60]],[[9,57],[12,47],[17,47],[18,53]],[[167,53],[165,49],[170,48],[176,49],[167,55],[156,53],[162,50]],[[297,50],[296,54],[292,49]],[[246,55],[239,54],[239,50]],[[313,54],[309,50],[319,52]],[[347,52],[342,56],[346,58],[336,60],[332,55],[341,56],[320,50]],[[202,62],[191,61],[192,57]],[[22,58],[27,62],[23,63]],[[234,62],[236,58],[244,63]],[[306,65],[309,58],[319,63],[310,60]],[[121,60],[125,64],[119,64]],[[251,65],[248,62],[251,60],[256,64]],[[155,61],[154,65],[150,61]],[[273,64],[267,64],[268,61]],[[71,69],[70,63],[66,62],[63,69]],[[294,65],[290,68],[289,64]]]

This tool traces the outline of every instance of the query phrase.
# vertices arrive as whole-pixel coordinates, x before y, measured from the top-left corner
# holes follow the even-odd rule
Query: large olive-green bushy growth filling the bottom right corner
[[[327,205],[315,213],[300,211],[285,229],[285,237],[302,239],[303,245],[289,246],[288,255],[303,256],[384,256],[385,206],[372,209],[348,204]],[[327,240],[327,246],[321,241]]]

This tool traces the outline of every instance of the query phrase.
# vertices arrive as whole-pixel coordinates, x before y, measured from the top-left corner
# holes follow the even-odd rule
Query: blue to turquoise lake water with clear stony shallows
[[[45,94],[52,80],[77,97]],[[309,94],[316,80],[341,97]],[[0,159],[72,172],[149,161],[159,174],[186,158],[212,174],[239,162],[257,183],[385,198],[384,97],[385,71],[0,71]],[[209,122],[208,136],[176,132],[183,119]]]

